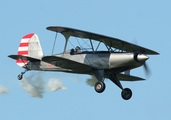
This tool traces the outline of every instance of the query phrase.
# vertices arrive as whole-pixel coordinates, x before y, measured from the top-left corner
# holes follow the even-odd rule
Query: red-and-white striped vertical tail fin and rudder
[[[36,59],[41,59],[43,57],[42,47],[36,34],[30,33],[22,37],[18,48],[18,55]],[[28,60],[16,60],[16,63],[22,67],[28,63]]]

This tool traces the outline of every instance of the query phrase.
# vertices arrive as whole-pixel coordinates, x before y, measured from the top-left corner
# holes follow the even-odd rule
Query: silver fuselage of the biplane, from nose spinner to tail
[[[148,59],[146,55],[137,55],[135,58],[134,53],[120,53],[120,52],[113,52],[109,53],[107,51],[104,52],[80,52],[75,54],[70,54],[70,52],[56,54],[54,56],[62,57],[65,59],[69,59],[78,63],[83,63],[89,66],[92,66],[95,69],[99,70],[110,70],[110,69],[117,69],[123,68],[123,71],[127,69],[133,69],[139,67],[144,64],[145,60]],[[62,68],[60,65],[53,65],[46,63],[44,61],[40,61],[40,63],[29,63],[31,70],[43,70],[43,71],[61,71],[61,72],[72,72],[72,73],[85,73],[91,71],[84,71],[84,68],[78,69],[68,69]],[[58,63],[62,64],[62,63]],[[39,68],[37,66],[40,66]],[[122,71],[120,71],[122,72]]]

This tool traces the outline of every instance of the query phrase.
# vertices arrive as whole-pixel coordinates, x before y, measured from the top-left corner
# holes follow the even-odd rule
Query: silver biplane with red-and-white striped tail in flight
[[[8,56],[15,59],[17,65],[25,69],[18,75],[19,80],[29,70],[94,75],[97,79],[94,85],[97,93],[102,93],[105,90],[104,80],[109,79],[122,90],[122,98],[129,100],[132,91],[129,88],[123,88],[121,81],[145,80],[130,75],[130,70],[144,66],[146,73],[149,73],[149,68],[146,65],[146,60],[149,58],[147,55],[159,54],[118,38],[83,30],[60,26],[50,26],[46,29],[64,36],[63,52],[44,56],[38,36],[34,33],[25,35],[21,39],[18,54]],[[90,49],[77,46],[67,50],[71,37],[88,40],[86,44],[89,44]],[[94,46],[94,41],[98,43],[97,46]],[[101,44],[105,46],[105,50],[98,50]]]

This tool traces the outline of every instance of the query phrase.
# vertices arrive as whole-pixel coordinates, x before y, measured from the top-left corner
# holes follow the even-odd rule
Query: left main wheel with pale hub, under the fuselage
[[[96,92],[98,93],[102,93],[106,88],[106,85],[103,81],[98,81],[96,82],[96,84],[94,85],[94,89],[96,90]]]

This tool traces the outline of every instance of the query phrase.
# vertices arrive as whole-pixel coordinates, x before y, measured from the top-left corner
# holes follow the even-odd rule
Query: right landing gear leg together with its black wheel
[[[115,83],[119,88],[122,89],[121,96],[124,100],[129,100],[132,97],[132,91],[129,88],[123,88],[122,84],[118,80],[117,76],[115,74],[111,75],[110,80]]]

